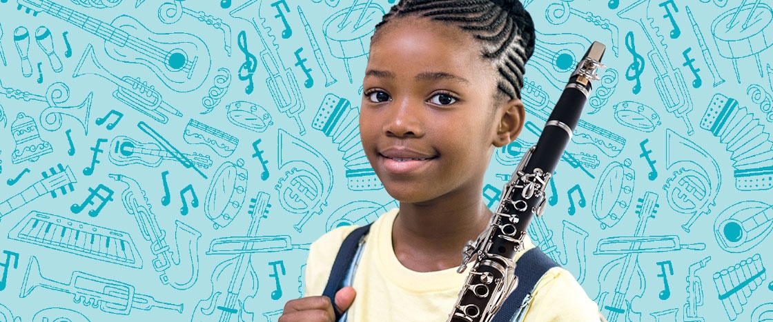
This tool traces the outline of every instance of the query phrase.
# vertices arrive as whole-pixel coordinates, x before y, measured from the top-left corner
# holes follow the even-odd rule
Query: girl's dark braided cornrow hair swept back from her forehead
[[[421,15],[457,25],[482,45],[482,58],[499,71],[498,93],[509,99],[521,98],[526,62],[534,51],[534,23],[518,0],[400,0],[376,25],[393,18]]]

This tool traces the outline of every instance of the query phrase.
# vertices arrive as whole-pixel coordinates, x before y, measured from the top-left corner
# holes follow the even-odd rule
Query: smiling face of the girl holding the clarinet
[[[481,194],[495,148],[495,70],[478,43],[427,18],[393,19],[371,43],[359,131],[400,202]],[[495,117],[496,116],[496,117]]]

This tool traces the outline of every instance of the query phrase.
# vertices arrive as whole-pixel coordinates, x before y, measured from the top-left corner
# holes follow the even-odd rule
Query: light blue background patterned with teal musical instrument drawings
[[[594,83],[584,123],[549,187],[550,205],[533,220],[530,236],[577,277],[610,321],[773,317],[771,252],[764,250],[773,227],[773,14],[769,1],[755,2],[526,1],[538,32],[523,90],[529,123],[516,142],[496,151],[482,193],[495,208],[577,59],[592,41],[606,44],[608,68]],[[54,2],[89,17],[96,33],[77,19],[67,22],[69,12],[58,7],[49,10],[58,16],[45,6],[37,15],[26,12],[36,3],[49,1],[0,2],[0,202],[8,199],[5,207],[13,209],[0,205],[0,320],[220,320],[223,310],[214,302],[235,310],[243,303],[242,320],[276,321],[285,302],[301,297],[309,243],[397,206],[369,168],[356,129],[367,43],[390,2],[234,0],[228,8],[217,1]],[[26,8],[17,10],[19,4]],[[338,25],[360,18],[358,29]],[[110,38],[111,24],[126,33]],[[108,53],[121,35],[134,37],[136,49]],[[176,55],[157,56],[165,53]],[[144,100],[168,106],[141,103],[139,86],[133,90],[129,80],[158,94]],[[714,122],[729,99],[737,101],[731,117]],[[325,133],[335,107],[345,109],[343,116]],[[108,130],[113,115],[97,125],[111,110],[123,114],[120,122]],[[707,130],[713,124],[716,135]],[[172,154],[158,163],[150,155],[167,148],[198,165]],[[60,172],[57,164],[69,167],[77,181],[72,190],[56,189],[56,198],[19,195],[29,187],[46,192],[44,185],[54,183],[45,177],[49,168]],[[66,178],[62,173],[50,178]],[[127,188],[119,180],[129,180],[116,175],[138,186]],[[198,205],[186,192],[189,212],[182,215],[180,192],[189,185]],[[93,205],[84,203],[90,189]],[[137,189],[146,202],[136,199]],[[89,215],[109,191],[112,200]],[[71,210],[81,204],[80,212]],[[130,210],[148,220],[145,227]],[[60,225],[83,225],[79,234],[113,230],[112,247],[120,246],[114,239],[133,245],[134,261],[77,249],[73,229],[51,231],[57,217],[33,228],[39,213],[62,217]],[[169,246],[158,255],[152,234],[145,239],[142,232],[153,226]],[[253,242],[251,252],[240,256],[244,240]],[[157,256],[179,264],[157,271]],[[240,258],[243,274],[234,277]],[[231,288],[238,296],[226,300],[232,280],[240,281]],[[63,290],[45,287],[52,283]],[[73,303],[73,293],[86,298]],[[84,306],[88,297],[104,302]],[[148,297],[169,308],[148,310],[141,303]]]

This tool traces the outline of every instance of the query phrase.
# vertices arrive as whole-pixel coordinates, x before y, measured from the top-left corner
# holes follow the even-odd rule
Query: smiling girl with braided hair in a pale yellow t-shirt
[[[281,322],[448,319],[467,272],[461,249],[492,218],[482,199],[492,153],[524,124],[520,100],[534,26],[517,0],[401,0],[376,25],[359,130],[368,161],[400,208],[369,228],[351,286],[321,296],[342,241],[311,246],[306,297]],[[526,238],[526,250],[533,249]],[[516,262],[517,265],[523,263]],[[525,264],[523,264],[525,265]],[[519,320],[604,320],[566,269],[544,273]],[[335,305],[334,305],[335,304]]]

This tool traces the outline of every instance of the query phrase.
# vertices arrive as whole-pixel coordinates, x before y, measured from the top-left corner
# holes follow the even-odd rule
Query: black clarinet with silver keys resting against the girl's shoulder
[[[569,83],[540,134],[523,156],[510,181],[502,188],[499,206],[489,228],[462,249],[462,273],[472,259],[475,264],[459,292],[448,322],[488,322],[518,285],[513,257],[523,250],[523,239],[533,215],[545,210],[545,187],[572,136],[591,90],[606,47],[593,42],[569,78]],[[527,298],[528,299],[528,298]],[[526,300],[525,300],[526,301]]]

